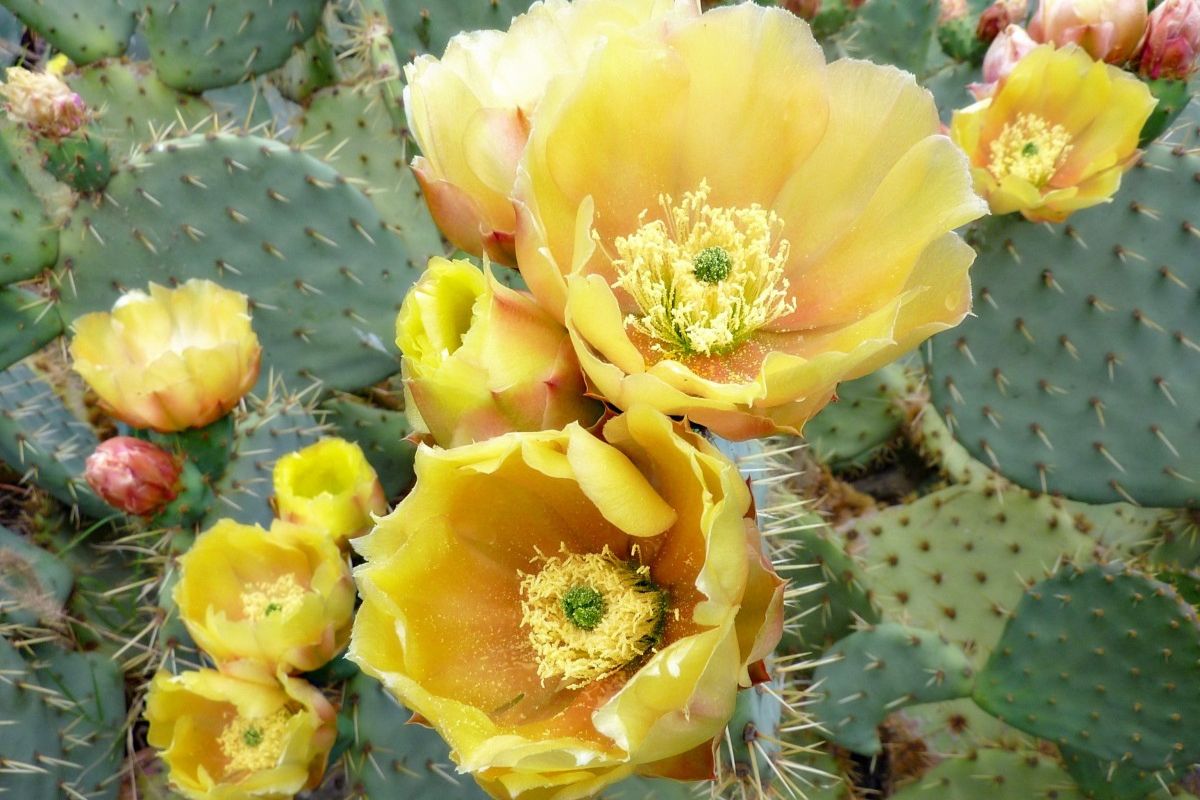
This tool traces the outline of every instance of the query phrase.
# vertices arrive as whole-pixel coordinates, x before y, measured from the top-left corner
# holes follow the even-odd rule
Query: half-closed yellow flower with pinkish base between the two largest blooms
[[[443,447],[595,422],[566,330],[469,261],[430,260],[396,318],[406,413]]]

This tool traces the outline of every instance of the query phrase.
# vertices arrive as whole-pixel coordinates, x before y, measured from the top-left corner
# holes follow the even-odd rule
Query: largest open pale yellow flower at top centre
[[[517,182],[521,272],[596,392],[731,439],[958,324],[985,207],[929,92],[826,66],[752,4],[612,37],[556,83]]]

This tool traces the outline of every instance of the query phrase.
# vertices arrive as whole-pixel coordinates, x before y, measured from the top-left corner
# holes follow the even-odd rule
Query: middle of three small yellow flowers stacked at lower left
[[[322,531],[222,519],[196,539],[179,571],[180,619],[223,672],[310,672],[347,644],[354,582]]]

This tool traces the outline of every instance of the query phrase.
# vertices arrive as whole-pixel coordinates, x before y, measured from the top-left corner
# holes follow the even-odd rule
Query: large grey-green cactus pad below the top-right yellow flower
[[[932,398],[982,462],[1090,503],[1195,503],[1200,154],[1156,144],[1111,205],[980,229],[974,317],[932,339]]]

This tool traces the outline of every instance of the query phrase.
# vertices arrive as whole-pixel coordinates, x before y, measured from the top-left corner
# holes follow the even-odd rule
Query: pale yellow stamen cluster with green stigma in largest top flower
[[[664,219],[647,222],[613,245],[617,285],[638,313],[626,324],[677,355],[724,355],[772,320],[796,311],[787,295],[787,240],[782,219],[758,204],[714,207],[709,187],[683,196],[678,205],[659,196]]]

